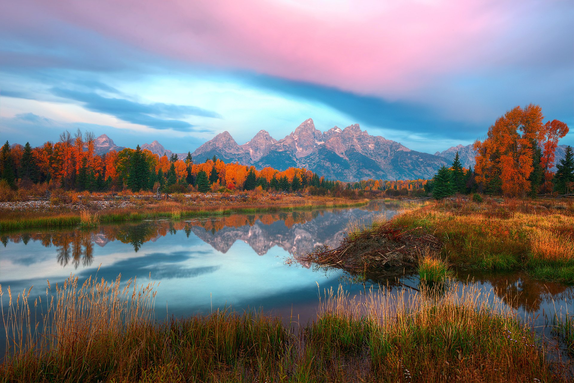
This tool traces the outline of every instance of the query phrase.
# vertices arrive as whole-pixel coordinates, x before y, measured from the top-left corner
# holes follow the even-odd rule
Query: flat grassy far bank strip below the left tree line
[[[99,223],[154,218],[192,218],[226,215],[362,206],[368,199],[331,198],[301,194],[176,194],[156,199],[151,194],[109,196],[73,194],[49,200],[5,202],[0,205],[0,232],[28,227],[93,227]]]

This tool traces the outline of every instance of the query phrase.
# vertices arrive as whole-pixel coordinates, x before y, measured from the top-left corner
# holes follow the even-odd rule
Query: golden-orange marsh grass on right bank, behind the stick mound
[[[441,257],[459,265],[574,282],[572,201],[443,200],[407,210],[390,226],[422,227],[444,243]]]

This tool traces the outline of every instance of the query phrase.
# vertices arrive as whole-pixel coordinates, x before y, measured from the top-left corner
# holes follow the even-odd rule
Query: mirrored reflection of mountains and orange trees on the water
[[[377,209],[379,206],[375,206]],[[259,254],[266,254],[273,246],[280,246],[293,255],[310,252],[314,246],[326,243],[334,246],[346,234],[349,222],[370,222],[374,207],[366,210],[312,210],[273,212],[269,214],[233,214],[192,220],[157,220],[129,222],[121,225],[103,225],[95,229],[57,229],[29,231],[3,235],[8,242],[40,242],[42,246],[56,247],[60,265],[89,266],[92,264],[94,245],[106,246],[113,241],[130,243],[138,252],[148,241],[155,242],[168,234],[184,231],[194,233],[219,252],[226,253],[236,241],[248,243]],[[387,216],[394,210],[386,210]]]

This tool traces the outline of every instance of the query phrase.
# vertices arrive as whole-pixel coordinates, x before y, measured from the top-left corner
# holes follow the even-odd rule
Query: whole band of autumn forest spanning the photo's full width
[[[574,155],[568,146],[565,158],[550,171],[554,152],[568,126],[554,119],[542,123],[540,106],[515,107],[488,129],[484,141],[476,141],[476,166],[464,169],[459,155],[432,180],[362,180],[356,183],[327,180],[305,168],[261,170],[216,157],[197,161],[187,157],[158,156],[150,150],[123,149],[106,154],[94,152],[93,133],[68,131],[56,143],[32,148],[6,141],[0,152],[3,188],[29,189],[45,184],[73,191],[224,192],[254,189],[313,195],[387,196],[431,195],[444,198],[456,193],[482,193],[514,197],[538,194],[570,194],[574,191]],[[352,192],[352,193],[351,193]]]

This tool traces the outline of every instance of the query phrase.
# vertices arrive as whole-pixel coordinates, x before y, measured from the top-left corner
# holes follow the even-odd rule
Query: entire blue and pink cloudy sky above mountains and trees
[[[0,140],[177,153],[359,123],[434,153],[535,103],[574,127],[574,1],[0,0]],[[574,130],[561,144],[574,145]]]

